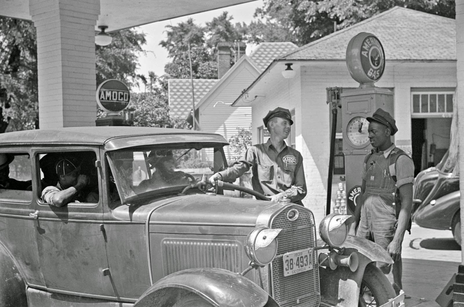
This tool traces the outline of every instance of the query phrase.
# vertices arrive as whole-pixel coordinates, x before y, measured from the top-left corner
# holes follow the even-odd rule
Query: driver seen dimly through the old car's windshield
[[[189,185],[192,183],[187,174],[182,171],[176,171],[176,160],[172,155],[163,157],[148,156],[150,168],[154,168],[151,179],[143,180],[138,186],[141,190],[154,190],[156,188]]]

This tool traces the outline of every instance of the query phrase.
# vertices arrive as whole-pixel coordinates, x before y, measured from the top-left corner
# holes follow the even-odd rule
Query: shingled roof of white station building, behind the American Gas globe
[[[345,60],[359,32],[380,39],[387,60],[456,60],[455,19],[395,6],[304,45],[278,60]]]

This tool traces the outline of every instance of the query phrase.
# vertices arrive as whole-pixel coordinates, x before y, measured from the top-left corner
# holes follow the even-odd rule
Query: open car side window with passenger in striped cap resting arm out
[[[71,203],[98,203],[98,170],[95,166],[97,155],[93,151],[53,152],[39,154],[40,196],[48,203],[53,191],[62,191],[85,183]],[[45,192],[51,191],[47,197]],[[45,193],[45,194],[44,194]],[[50,205],[52,201],[50,201]]]

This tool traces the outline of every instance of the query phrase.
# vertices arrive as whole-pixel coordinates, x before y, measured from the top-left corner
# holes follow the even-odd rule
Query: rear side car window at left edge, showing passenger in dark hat
[[[32,174],[29,154],[0,153],[0,198],[32,200]]]

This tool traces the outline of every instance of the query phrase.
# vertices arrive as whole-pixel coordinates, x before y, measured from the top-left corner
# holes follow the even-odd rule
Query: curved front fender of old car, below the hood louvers
[[[198,294],[217,307],[278,307],[269,294],[251,280],[215,268],[187,269],[168,275],[148,288],[134,307],[165,306],[186,292]]]

